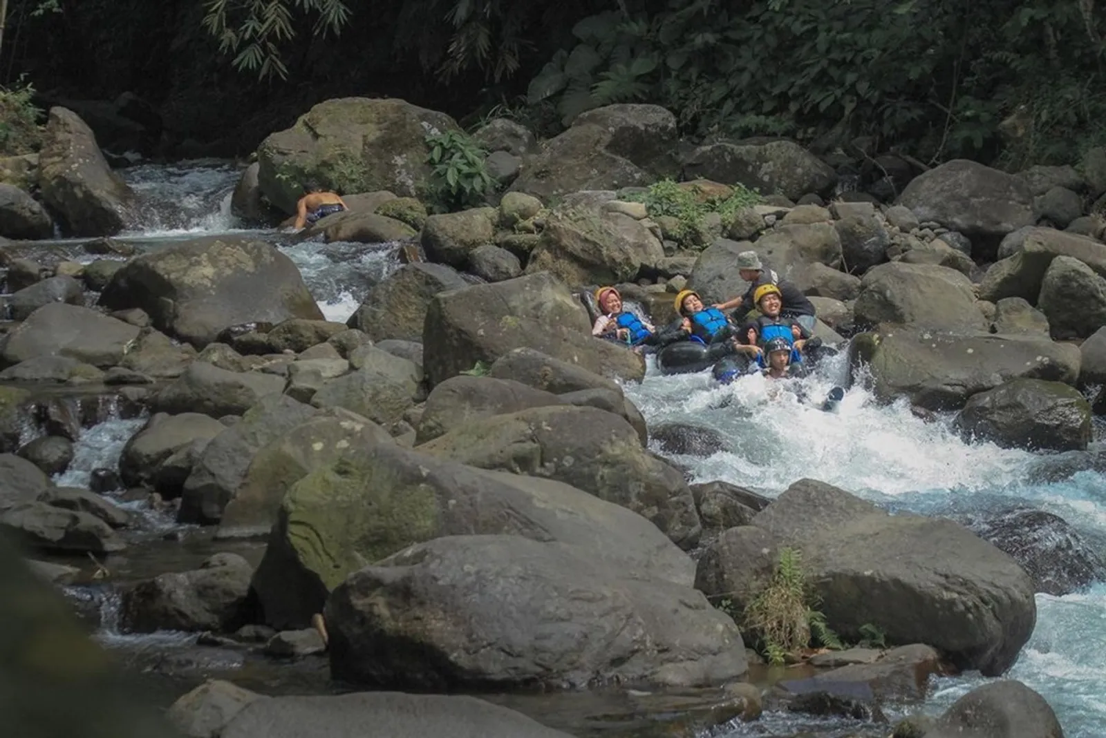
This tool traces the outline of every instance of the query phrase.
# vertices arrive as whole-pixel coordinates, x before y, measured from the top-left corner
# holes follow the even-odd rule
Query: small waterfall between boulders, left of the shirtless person
[[[139,165],[119,171],[138,198],[142,235],[185,235],[241,230],[230,197],[241,170],[227,161]],[[126,234],[124,234],[126,235]]]

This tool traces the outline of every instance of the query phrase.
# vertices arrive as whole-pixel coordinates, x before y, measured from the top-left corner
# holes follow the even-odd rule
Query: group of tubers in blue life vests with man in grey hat
[[[741,252],[737,262],[741,278],[749,283],[743,295],[707,305],[699,293],[682,289],[675,304],[679,318],[660,329],[627,310],[617,289],[599,287],[595,291],[599,316],[592,334],[638,351],[658,351],[658,363],[675,349],[688,357],[686,366],[675,367],[676,371],[712,366],[714,378],[722,383],[755,371],[770,379],[803,376],[823,348],[822,340],[813,336],[814,305],[794,284],[764,268],[755,252]],[[733,316],[754,309],[757,314],[739,327],[723,312],[730,309]],[[835,388],[832,396],[839,400],[838,393]]]

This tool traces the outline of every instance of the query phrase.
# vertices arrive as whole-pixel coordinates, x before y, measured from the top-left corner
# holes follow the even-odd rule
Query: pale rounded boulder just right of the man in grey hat
[[[987,330],[975,308],[971,281],[960,272],[929,264],[891,262],[868,270],[854,306],[862,325],[883,323],[915,328]]]

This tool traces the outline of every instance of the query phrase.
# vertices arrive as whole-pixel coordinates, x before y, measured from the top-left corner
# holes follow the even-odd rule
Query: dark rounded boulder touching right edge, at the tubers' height
[[[1037,307],[1056,340],[1088,338],[1106,325],[1106,280],[1077,259],[1056,256],[1041,282]]]

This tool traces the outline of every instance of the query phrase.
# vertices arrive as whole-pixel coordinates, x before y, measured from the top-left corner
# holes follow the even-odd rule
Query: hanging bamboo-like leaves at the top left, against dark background
[[[288,78],[281,45],[306,18],[315,15],[315,35],[338,35],[349,20],[343,0],[204,0],[204,28],[219,40],[219,51],[233,54],[234,68],[262,80]]]

